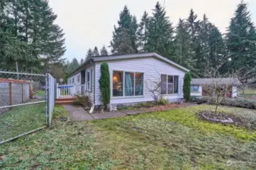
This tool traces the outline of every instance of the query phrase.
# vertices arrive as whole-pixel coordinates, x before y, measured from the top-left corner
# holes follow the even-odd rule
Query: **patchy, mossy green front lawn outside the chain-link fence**
[[[198,119],[201,105],[92,122],[61,122],[0,146],[8,169],[256,169],[256,132]],[[255,110],[221,107],[256,120]]]

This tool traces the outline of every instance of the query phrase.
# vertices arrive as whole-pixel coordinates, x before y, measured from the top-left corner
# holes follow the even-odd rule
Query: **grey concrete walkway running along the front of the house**
[[[75,122],[87,121],[87,120],[93,120],[93,119],[122,117],[122,116],[136,115],[136,114],[147,112],[146,110],[123,110],[123,111],[115,111],[115,112],[108,112],[108,113],[89,114],[82,107],[74,107],[72,105],[62,105],[62,106],[65,108],[65,110],[68,111],[68,113],[71,116],[71,119]]]

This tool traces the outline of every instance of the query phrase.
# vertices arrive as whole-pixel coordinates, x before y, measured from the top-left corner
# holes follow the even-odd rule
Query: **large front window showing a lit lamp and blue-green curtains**
[[[142,96],[143,73],[114,71],[112,75],[112,96]]]

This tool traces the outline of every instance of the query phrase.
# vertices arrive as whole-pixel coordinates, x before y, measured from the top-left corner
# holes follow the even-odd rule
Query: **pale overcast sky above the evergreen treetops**
[[[156,0],[49,0],[58,18],[55,23],[64,29],[67,51],[65,58],[85,58],[89,48],[109,46],[113,26],[119,20],[119,13],[125,5],[131,14],[141,20],[144,11],[150,15]],[[167,15],[175,26],[179,18],[187,18],[191,8],[202,18],[207,14],[210,22],[226,31],[240,0],[161,0]],[[256,23],[256,0],[247,0],[252,20]]]

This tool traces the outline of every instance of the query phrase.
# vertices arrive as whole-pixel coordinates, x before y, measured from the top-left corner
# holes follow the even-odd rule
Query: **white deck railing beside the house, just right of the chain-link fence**
[[[57,85],[57,98],[84,95],[85,85]]]

